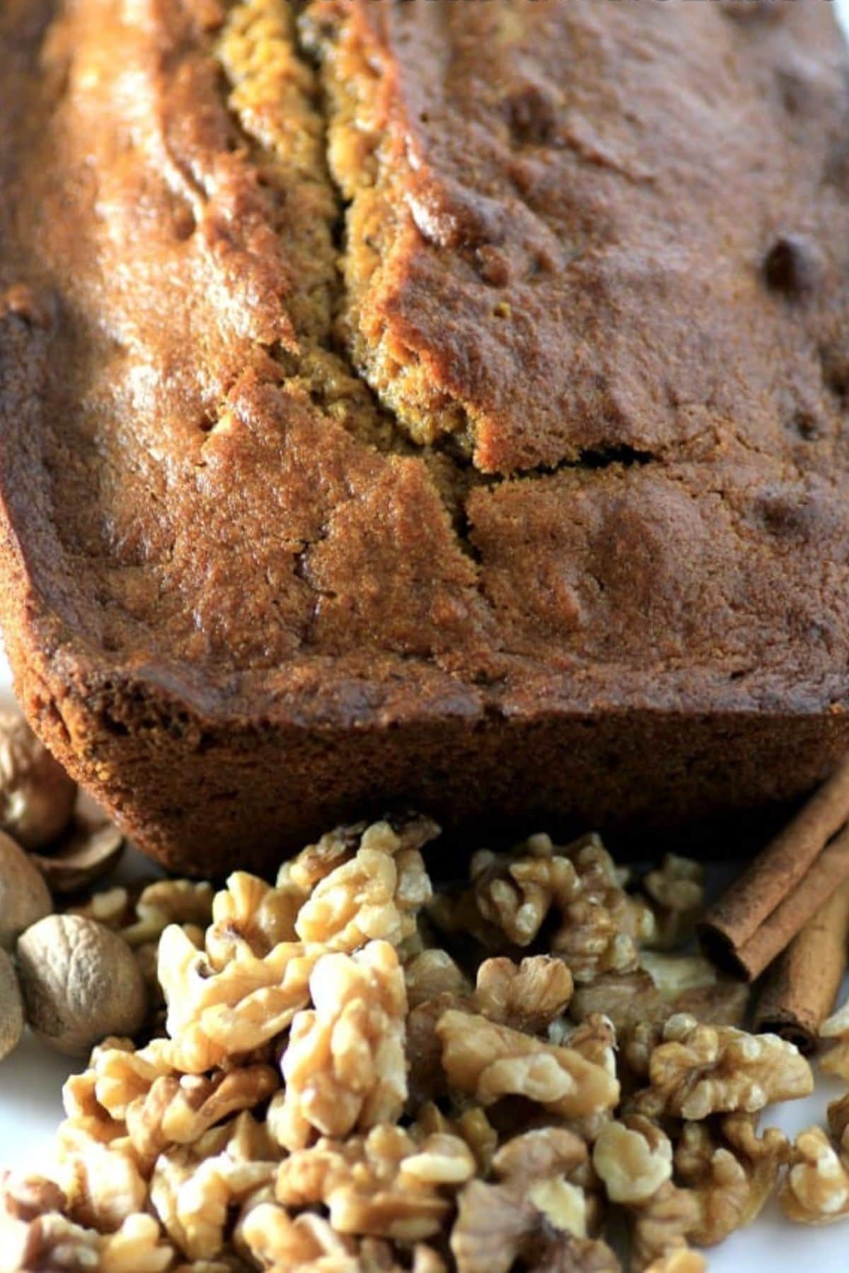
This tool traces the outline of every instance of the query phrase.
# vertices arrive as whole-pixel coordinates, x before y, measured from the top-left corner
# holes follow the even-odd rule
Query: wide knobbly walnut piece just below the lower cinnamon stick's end
[[[667,1021],[663,1043],[652,1051],[649,1087],[638,1094],[635,1108],[649,1116],[703,1119],[752,1114],[812,1091],[811,1067],[793,1044],[778,1035],[699,1025],[680,1013]]]

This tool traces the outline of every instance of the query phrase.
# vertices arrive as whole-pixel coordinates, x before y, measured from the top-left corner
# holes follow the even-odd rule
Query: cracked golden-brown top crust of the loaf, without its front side
[[[845,57],[785,9],[8,5],[6,502],[51,610],[230,672],[826,676]]]

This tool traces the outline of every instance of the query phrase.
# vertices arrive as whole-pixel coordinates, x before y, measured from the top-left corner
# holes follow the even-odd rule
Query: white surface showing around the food
[[[780,3],[834,3],[849,29],[849,0]],[[8,671],[0,653],[0,694],[8,691]],[[844,985],[844,993],[849,993],[849,984]],[[34,1169],[43,1164],[62,1116],[61,1083],[74,1068],[73,1062],[31,1036],[0,1063],[0,1167]],[[843,1091],[844,1085],[820,1080],[816,1094],[808,1100],[768,1110],[764,1125],[778,1125],[793,1136],[812,1123],[822,1123],[827,1102]],[[849,1220],[825,1228],[790,1225],[773,1199],[754,1225],[706,1255],[710,1273],[747,1273],[756,1265],[769,1273],[798,1273],[802,1267],[817,1273],[849,1273]]]

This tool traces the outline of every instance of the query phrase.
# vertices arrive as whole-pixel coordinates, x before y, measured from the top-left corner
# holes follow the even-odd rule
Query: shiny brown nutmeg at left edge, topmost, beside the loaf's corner
[[[71,820],[76,783],[18,712],[0,712],[0,827],[25,849],[61,835]]]

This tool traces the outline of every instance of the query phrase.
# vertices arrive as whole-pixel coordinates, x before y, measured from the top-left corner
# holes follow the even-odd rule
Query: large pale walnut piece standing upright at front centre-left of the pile
[[[395,948],[369,942],[323,955],[309,979],[313,1008],[293,1022],[281,1068],[285,1092],[275,1132],[288,1150],[314,1132],[341,1137],[392,1123],[407,1094],[407,1001]]]

